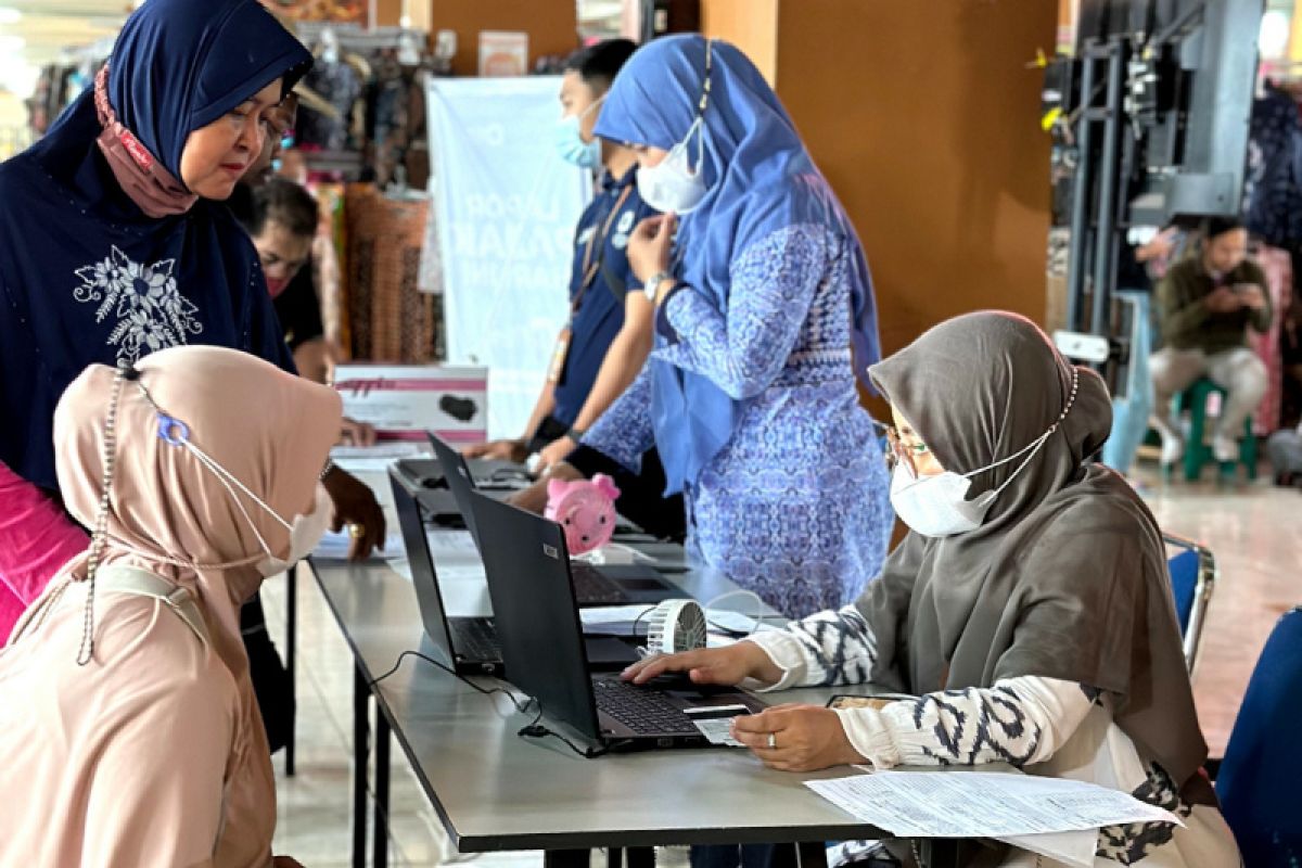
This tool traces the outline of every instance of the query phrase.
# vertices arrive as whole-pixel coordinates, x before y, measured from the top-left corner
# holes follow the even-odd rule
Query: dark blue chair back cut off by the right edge
[[[1225,759],[1216,776],[1225,820],[1243,864],[1302,864],[1302,606],[1280,618],[1247,683]]]

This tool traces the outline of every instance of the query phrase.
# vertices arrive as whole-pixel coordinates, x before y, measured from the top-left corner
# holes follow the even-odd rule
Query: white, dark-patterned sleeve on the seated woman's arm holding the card
[[[1056,678],[1019,677],[871,708],[838,709],[850,744],[879,769],[894,765],[1021,768],[1043,763],[1090,713],[1098,691]]]

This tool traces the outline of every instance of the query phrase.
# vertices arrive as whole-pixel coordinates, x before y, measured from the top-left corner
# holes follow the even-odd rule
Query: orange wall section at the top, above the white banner
[[[379,13],[400,0],[379,0]],[[426,18],[431,35],[439,30],[457,33],[457,56],[452,69],[458,75],[479,72],[479,31],[516,30],[529,34],[529,65],[546,55],[568,55],[578,48],[578,9],[574,0],[410,0],[410,5],[430,5]],[[423,10],[422,10],[423,12]],[[417,23],[417,13],[411,13]],[[381,21],[380,23],[385,23]],[[397,23],[396,16],[395,21]]]

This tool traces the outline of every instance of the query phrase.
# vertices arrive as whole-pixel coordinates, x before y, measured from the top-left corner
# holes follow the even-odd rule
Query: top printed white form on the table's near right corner
[[[807,781],[842,811],[906,838],[1004,838],[1129,822],[1174,822],[1161,808],[1094,783],[987,772],[875,772]]]

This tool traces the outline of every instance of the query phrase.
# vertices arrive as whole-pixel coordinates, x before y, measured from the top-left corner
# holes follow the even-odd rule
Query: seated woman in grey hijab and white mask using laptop
[[[870,373],[892,405],[891,496],[910,527],[878,580],[840,612],[626,678],[874,683],[915,699],[773,708],[736,718],[734,735],[792,772],[1009,763],[1094,781],[1186,824],[1103,829],[1098,864],[1240,864],[1202,772],[1157,524],[1088,462],[1112,428],[1099,376],[1004,312],[941,323]]]

